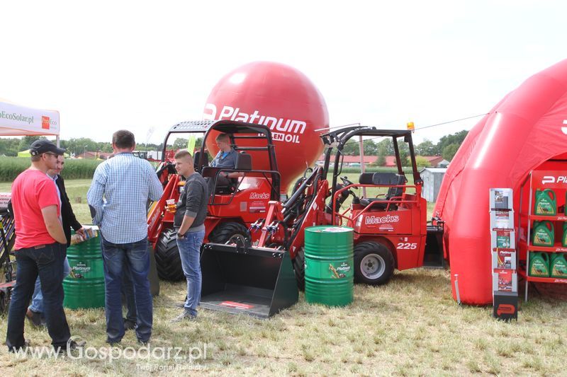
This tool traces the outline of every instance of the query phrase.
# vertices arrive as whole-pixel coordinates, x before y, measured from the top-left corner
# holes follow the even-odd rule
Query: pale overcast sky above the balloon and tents
[[[566,1],[4,1],[0,98],[60,111],[61,138],[159,143],[242,64],[281,62],[331,125],[424,127],[488,112],[566,56]],[[478,121],[418,131],[437,141]]]

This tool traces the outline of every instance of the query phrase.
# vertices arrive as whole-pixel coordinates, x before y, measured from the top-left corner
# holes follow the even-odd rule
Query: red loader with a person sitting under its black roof
[[[233,169],[208,166],[206,144],[219,133],[229,134],[231,145],[238,152]],[[203,145],[193,156],[195,170],[215,182],[215,192],[211,193],[208,204],[204,242],[234,243],[250,238],[249,226],[266,212],[269,201],[277,201],[280,196],[280,174],[269,127],[230,120],[174,125],[165,137],[162,162],[157,167],[164,195],[151,205],[147,219],[148,239],[155,250],[158,275],[173,281],[184,279],[184,274],[173,228],[174,214],[167,211],[166,204],[168,199],[175,202],[179,199],[185,182],[174,168],[174,153],[166,149],[168,139],[179,134],[204,134]],[[217,185],[220,173],[237,173],[238,177],[221,186]]]

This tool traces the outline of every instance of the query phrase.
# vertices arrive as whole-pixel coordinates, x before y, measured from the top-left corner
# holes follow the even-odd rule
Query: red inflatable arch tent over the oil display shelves
[[[567,59],[508,93],[468,133],[445,174],[434,213],[446,221],[444,245],[451,286],[458,275],[463,303],[492,302],[488,190],[514,190],[515,224],[520,191],[529,195],[531,170],[567,172]],[[565,204],[558,198],[557,205]],[[516,229],[518,231],[518,229]]]

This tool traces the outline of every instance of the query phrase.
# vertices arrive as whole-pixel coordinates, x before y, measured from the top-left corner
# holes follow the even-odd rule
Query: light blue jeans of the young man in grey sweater
[[[181,257],[181,268],[187,279],[187,299],[184,308],[191,315],[197,315],[201,301],[201,245],[205,231],[188,232],[184,238],[177,238],[177,248]]]

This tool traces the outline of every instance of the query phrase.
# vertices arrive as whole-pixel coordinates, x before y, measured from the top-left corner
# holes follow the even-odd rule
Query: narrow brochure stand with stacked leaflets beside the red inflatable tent
[[[518,279],[512,189],[490,189],[490,253],[492,254],[493,315],[517,319]]]

